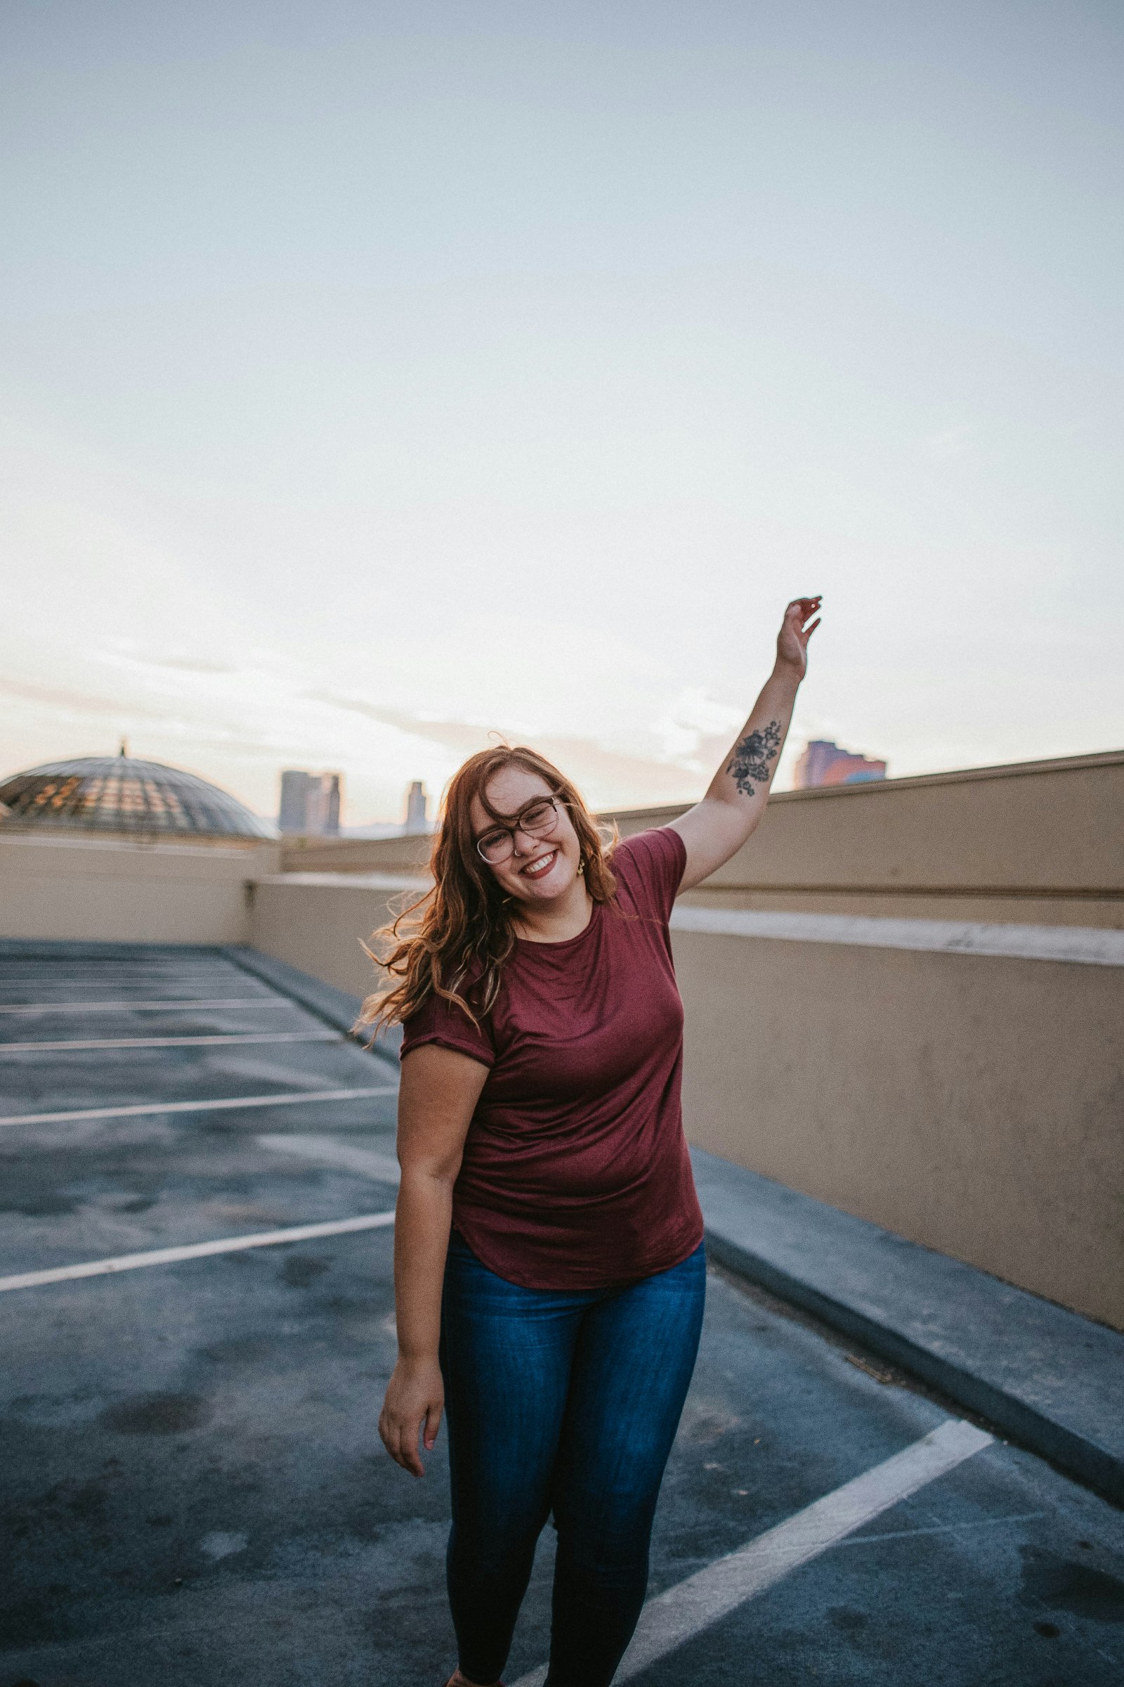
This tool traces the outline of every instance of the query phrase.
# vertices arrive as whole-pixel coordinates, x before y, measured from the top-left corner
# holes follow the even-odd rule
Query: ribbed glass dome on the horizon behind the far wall
[[[125,751],[49,761],[12,774],[0,783],[0,827],[145,837],[276,837],[276,827],[217,784],[160,761],[136,761]]]

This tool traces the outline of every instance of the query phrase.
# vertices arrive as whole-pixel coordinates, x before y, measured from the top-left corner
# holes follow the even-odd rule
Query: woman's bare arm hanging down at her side
[[[435,1043],[403,1059],[398,1159],[403,1181],[394,1218],[398,1365],[386,1388],[379,1434],[389,1456],[421,1476],[418,1432],[433,1447],[445,1407],[436,1350],[442,1284],[453,1218],[453,1184],[487,1066]]]

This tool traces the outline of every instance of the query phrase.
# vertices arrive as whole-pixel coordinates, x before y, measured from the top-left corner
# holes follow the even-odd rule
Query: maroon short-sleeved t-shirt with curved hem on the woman
[[[682,1002],[667,916],[677,832],[617,847],[617,908],[565,943],[519,940],[477,1029],[431,995],[403,1036],[489,1068],[453,1188],[453,1225],[527,1289],[605,1289],[679,1265],[703,1240],[682,1135]]]

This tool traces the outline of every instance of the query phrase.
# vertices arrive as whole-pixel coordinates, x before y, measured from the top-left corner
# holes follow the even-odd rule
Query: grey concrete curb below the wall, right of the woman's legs
[[[711,1257],[1124,1505],[1124,1334],[691,1151]]]

